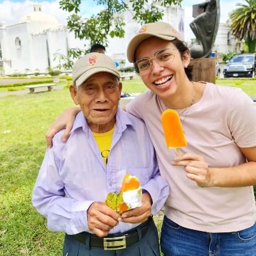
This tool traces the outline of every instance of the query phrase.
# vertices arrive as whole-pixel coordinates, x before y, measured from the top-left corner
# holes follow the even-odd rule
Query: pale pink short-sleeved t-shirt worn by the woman
[[[153,92],[132,100],[127,112],[143,119],[154,144],[162,177],[170,184],[164,213],[182,227],[204,232],[234,232],[256,220],[253,187],[200,188],[186,177],[184,168],[170,164],[175,150],[168,150],[161,126],[166,109]],[[188,147],[181,153],[204,156],[210,167],[245,163],[239,147],[256,146],[256,104],[239,88],[205,84],[204,94],[191,108],[177,109]],[[224,170],[223,170],[224,171]]]

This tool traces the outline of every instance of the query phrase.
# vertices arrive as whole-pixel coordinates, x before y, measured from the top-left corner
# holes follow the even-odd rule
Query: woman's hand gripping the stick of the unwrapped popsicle
[[[184,166],[187,177],[194,180],[198,186],[214,186],[211,169],[205,163],[204,157],[191,153],[179,155],[172,161],[172,165]]]

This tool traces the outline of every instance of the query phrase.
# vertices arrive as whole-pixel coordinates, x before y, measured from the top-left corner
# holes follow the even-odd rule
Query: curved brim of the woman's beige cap
[[[129,42],[129,45],[127,47],[127,59],[134,63],[134,53],[136,51],[136,48],[138,47],[138,45],[145,39],[150,38],[152,36],[156,36],[158,38],[164,39],[164,40],[168,40],[168,41],[172,41],[174,39],[176,39],[174,36],[166,36],[166,35],[156,35],[155,33],[141,33],[138,34],[136,36],[134,36],[134,38],[132,38],[132,40]]]

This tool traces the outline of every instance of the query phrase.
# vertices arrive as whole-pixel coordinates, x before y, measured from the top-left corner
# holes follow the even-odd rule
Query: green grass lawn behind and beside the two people
[[[140,79],[122,82],[123,92],[147,90]],[[256,95],[256,85],[244,82],[241,87]],[[67,88],[0,97],[0,255],[61,255],[63,234],[47,230],[46,221],[31,205],[31,191],[45,153],[45,132],[69,106],[74,104]],[[157,226],[161,227],[161,218]]]

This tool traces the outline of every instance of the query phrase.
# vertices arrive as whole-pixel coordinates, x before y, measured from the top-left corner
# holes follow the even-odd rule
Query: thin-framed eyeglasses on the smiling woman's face
[[[135,72],[138,75],[148,74],[150,72],[150,67],[152,66],[152,60],[154,59],[161,67],[172,62],[175,57],[175,55],[173,54],[173,50],[177,50],[177,48],[165,48],[157,51],[154,54],[153,58],[142,58],[136,61],[133,64]]]

